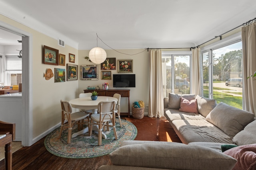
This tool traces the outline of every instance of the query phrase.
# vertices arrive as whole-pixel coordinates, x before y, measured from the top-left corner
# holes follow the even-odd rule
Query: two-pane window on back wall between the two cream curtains
[[[164,97],[168,97],[168,93],[190,93],[190,57],[187,54],[162,51]]]

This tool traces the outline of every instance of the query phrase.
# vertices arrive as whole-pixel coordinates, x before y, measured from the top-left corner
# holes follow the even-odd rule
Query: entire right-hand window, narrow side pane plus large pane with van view
[[[242,109],[242,42],[209,50],[202,58],[204,97]]]

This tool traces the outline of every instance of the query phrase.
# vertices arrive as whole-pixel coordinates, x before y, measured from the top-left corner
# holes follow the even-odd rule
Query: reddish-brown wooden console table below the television
[[[120,90],[120,89],[108,89],[108,90],[84,90],[84,93],[90,93],[96,91],[98,92],[98,96],[110,96],[113,97],[115,93],[118,93],[121,95],[121,98],[128,98],[128,113],[125,113],[126,115],[128,114],[128,117],[130,117],[130,89],[124,89],[124,90]],[[121,115],[125,115],[122,114],[122,112],[120,113]]]

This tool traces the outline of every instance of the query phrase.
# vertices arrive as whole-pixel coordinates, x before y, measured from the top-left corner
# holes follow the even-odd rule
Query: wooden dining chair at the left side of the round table
[[[76,123],[78,130],[82,130],[82,127],[86,122],[84,122],[84,119],[87,117],[87,123],[88,123],[88,129],[90,132],[90,114],[84,113],[82,111],[78,111],[75,113],[72,113],[72,107],[68,101],[60,100],[61,104],[61,127],[60,127],[60,136],[63,128],[68,128],[68,140],[67,143],[70,144],[71,142],[71,135],[72,135],[72,127]],[[64,121],[67,120],[68,123],[64,123]]]

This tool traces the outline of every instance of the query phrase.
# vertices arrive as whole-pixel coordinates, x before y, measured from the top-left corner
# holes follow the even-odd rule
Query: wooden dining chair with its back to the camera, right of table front
[[[102,144],[102,128],[112,126],[114,130],[115,139],[117,140],[116,133],[116,117],[115,117],[116,101],[100,102],[98,104],[98,114],[91,115],[90,133],[92,135],[92,126],[98,125],[98,145]],[[112,122],[109,124],[109,122]]]

